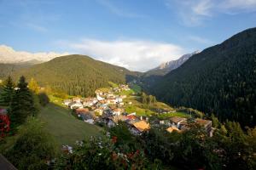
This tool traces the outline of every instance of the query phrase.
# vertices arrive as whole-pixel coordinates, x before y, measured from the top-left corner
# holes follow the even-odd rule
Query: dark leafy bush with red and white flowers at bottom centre
[[[157,166],[154,166],[157,167]],[[56,169],[153,169],[141,150],[123,150],[108,138],[85,140],[73,154],[57,160]]]

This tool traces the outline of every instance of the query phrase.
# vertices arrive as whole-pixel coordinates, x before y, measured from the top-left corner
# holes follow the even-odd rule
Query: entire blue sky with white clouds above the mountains
[[[255,26],[256,0],[0,0],[0,45],[86,54],[131,71]]]

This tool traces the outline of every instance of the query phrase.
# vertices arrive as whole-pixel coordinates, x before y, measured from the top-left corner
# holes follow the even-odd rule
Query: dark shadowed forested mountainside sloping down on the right
[[[256,28],[193,55],[150,92],[172,105],[256,124]]]

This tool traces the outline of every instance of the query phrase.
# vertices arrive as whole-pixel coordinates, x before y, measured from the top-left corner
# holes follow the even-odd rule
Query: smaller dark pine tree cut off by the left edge
[[[3,93],[0,96],[0,105],[9,106],[15,93],[15,84],[11,77],[3,83]]]

